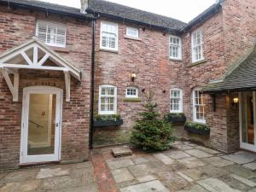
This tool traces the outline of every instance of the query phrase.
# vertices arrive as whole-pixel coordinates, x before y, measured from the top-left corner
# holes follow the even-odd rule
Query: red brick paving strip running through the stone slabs
[[[94,166],[94,174],[99,192],[119,192],[112,173],[105,162],[101,151],[91,151],[91,161]]]

